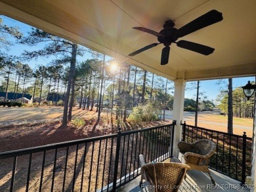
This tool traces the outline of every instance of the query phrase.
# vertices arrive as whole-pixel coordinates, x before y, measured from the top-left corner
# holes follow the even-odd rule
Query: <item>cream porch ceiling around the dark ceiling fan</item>
[[[133,27],[160,31],[166,20],[173,20],[179,29],[212,9],[223,13],[221,22],[179,40],[213,47],[213,54],[204,56],[173,44],[165,66],[160,65],[163,45],[128,56],[158,43],[154,35]],[[0,0],[0,13],[168,79],[256,74],[255,0]]]

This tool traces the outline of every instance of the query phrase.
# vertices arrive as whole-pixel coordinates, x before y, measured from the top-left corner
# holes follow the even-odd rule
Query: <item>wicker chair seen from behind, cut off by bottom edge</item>
[[[172,192],[178,191],[182,179],[186,174],[189,166],[182,163],[146,163],[143,155],[139,156],[141,165],[141,180],[148,183],[148,190],[155,192]]]

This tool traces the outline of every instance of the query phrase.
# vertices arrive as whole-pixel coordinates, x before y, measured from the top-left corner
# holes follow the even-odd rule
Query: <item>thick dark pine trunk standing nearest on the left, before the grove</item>
[[[73,60],[71,62],[74,62],[74,65],[72,66],[72,93],[71,93],[71,98],[70,98],[70,109],[68,110],[68,122],[71,121],[72,119],[72,108],[74,106],[74,100],[75,100],[75,62],[76,62],[76,51],[77,51],[77,44],[73,43],[72,44],[72,57]]]

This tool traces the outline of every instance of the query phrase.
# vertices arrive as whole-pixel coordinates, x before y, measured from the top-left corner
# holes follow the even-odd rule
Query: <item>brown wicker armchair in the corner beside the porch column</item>
[[[184,154],[185,163],[190,166],[190,170],[207,172],[211,182],[215,185],[215,181],[208,168],[210,158],[216,151],[215,143],[206,139],[197,140],[192,144],[179,142],[178,148]]]

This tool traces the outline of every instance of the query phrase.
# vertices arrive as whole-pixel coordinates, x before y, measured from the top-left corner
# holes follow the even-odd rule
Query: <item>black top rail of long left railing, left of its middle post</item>
[[[48,151],[51,149],[59,149],[62,147],[68,147],[68,146],[77,145],[77,144],[84,144],[87,142],[96,142],[99,140],[104,140],[107,138],[115,138],[115,137],[117,137],[117,134],[110,134],[107,136],[97,136],[97,137],[85,138],[85,139],[81,139],[81,140],[72,140],[72,141],[60,142],[60,143],[56,143],[56,144],[41,145],[41,146],[37,146],[37,147],[17,149],[17,150],[13,150],[13,151],[5,151],[5,152],[0,153],[0,159],[6,159],[9,157],[16,157],[16,156],[20,156],[20,155],[28,155],[30,153],[38,153],[41,151]]]

